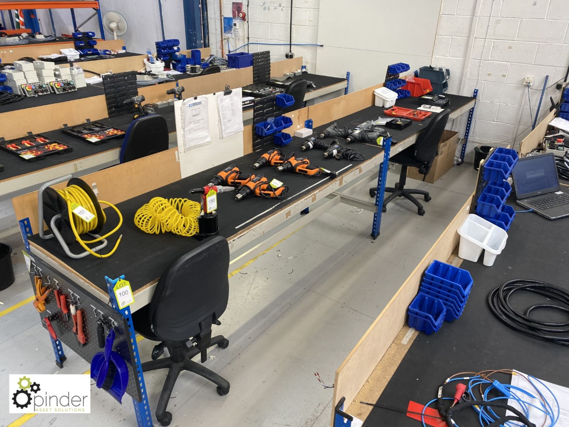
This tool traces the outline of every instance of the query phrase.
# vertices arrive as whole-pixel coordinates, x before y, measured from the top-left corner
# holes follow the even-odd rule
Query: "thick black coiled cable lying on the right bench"
[[[535,304],[527,308],[525,313],[519,313],[510,305],[510,297],[516,291],[527,291],[542,295],[563,305]],[[492,313],[506,325],[523,332],[550,341],[561,346],[569,347],[569,322],[543,322],[529,317],[535,309],[552,309],[569,313],[569,290],[547,282],[530,279],[515,279],[506,282],[488,294],[488,305]],[[552,335],[553,334],[553,335]]]

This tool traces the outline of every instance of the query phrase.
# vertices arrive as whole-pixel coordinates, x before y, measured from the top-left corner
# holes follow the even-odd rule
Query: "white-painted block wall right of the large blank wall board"
[[[479,89],[467,160],[475,145],[512,144],[518,135],[517,145],[531,130],[545,76],[553,86],[540,116],[549,112],[549,97],[559,97],[554,83],[564,79],[569,65],[569,0],[482,0],[477,24],[475,5],[476,0],[443,0],[432,57],[432,65],[451,71],[448,93],[472,95]],[[472,26],[475,40],[465,64]],[[534,78],[529,99],[524,77]],[[454,123],[461,136],[465,124],[465,116]]]

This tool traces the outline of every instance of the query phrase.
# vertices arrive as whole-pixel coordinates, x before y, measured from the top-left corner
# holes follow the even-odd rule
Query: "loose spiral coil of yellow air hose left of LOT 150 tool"
[[[200,212],[200,204],[192,200],[155,197],[134,214],[134,224],[149,234],[172,232],[190,237],[198,232]]]

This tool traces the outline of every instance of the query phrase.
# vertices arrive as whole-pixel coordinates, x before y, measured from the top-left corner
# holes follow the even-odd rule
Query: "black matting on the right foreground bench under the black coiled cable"
[[[513,198],[508,204],[517,211],[525,210]],[[445,322],[434,335],[418,335],[377,403],[401,409],[407,409],[410,400],[425,404],[435,399],[439,384],[453,373],[484,369],[517,369],[569,387],[569,370],[566,369],[569,349],[510,329],[494,317],[487,301],[492,289],[518,278],[569,288],[568,234],[569,217],[551,221],[532,212],[517,213],[506,247],[492,267],[483,265],[484,253],[479,262],[463,261],[461,268],[468,270],[474,279],[463,315],[453,323]],[[546,301],[529,293],[512,297],[513,306],[518,310]],[[566,316],[547,310],[536,311],[535,316],[538,315],[546,321],[567,321]],[[496,379],[509,384],[511,375],[500,374]],[[454,384],[445,388],[446,397],[454,394]],[[455,421],[460,427],[480,425],[471,409],[461,411]],[[373,408],[364,426],[380,425],[417,427],[420,421]]]

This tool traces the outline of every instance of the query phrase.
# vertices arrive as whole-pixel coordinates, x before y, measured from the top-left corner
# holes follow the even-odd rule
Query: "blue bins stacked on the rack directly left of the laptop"
[[[512,193],[512,186],[506,179],[518,162],[516,150],[498,147],[484,162],[483,180],[486,182],[476,202],[476,214],[486,221],[508,231],[516,212],[506,200]]]

